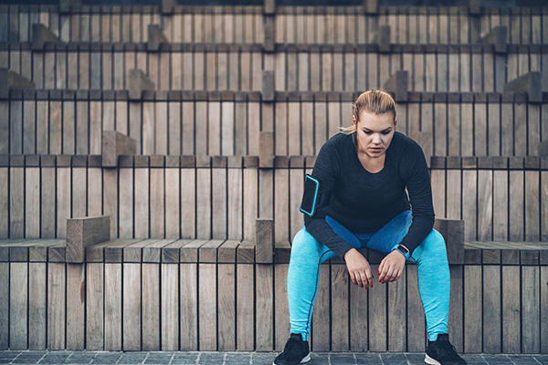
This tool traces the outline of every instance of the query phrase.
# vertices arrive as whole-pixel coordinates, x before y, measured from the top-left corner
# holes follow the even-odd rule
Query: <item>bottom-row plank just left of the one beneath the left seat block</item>
[[[47,349],[65,349],[65,264],[47,264]]]

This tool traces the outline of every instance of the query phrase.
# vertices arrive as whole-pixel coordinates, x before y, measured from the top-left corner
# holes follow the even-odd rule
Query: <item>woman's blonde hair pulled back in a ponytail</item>
[[[360,121],[360,114],[363,111],[374,113],[376,115],[385,113],[394,113],[395,120],[395,101],[392,96],[383,89],[371,89],[360,94],[358,99],[353,103],[353,117],[357,122]],[[352,134],[356,131],[356,126],[352,124],[350,127],[342,127],[341,132]]]

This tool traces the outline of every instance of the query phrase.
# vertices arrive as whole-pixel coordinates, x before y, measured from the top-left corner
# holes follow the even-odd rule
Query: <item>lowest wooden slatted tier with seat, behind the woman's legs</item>
[[[0,349],[283,349],[287,244],[266,265],[245,241],[115,240],[88,248],[84,264],[65,263],[62,248],[0,241]],[[450,266],[449,336],[459,352],[548,353],[546,254],[469,247],[465,264]],[[364,255],[375,269],[381,257]],[[321,266],[312,350],[425,346],[416,266],[368,291],[351,285],[340,259]]]

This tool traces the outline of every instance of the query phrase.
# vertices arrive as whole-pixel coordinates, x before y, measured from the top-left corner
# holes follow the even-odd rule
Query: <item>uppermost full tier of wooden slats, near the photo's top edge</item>
[[[149,24],[163,25],[170,42],[261,43],[262,6],[175,6],[162,15],[158,6],[78,6],[58,14],[58,6],[3,5],[0,41],[27,42],[41,22],[65,42],[145,42]],[[482,8],[469,16],[458,7],[383,7],[364,15],[362,7],[278,7],[275,41],[300,44],[352,44],[371,41],[378,26],[392,27],[399,44],[469,44],[494,26],[508,26],[511,44],[546,44],[542,7]],[[235,26],[237,25],[237,26]],[[318,29],[317,32],[311,29]],[[222,31],[221,31],[222,30]]]

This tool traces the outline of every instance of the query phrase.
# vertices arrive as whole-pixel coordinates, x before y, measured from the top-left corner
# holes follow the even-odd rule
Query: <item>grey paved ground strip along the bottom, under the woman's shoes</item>
[[[0,351],[0,364],[241,365],[272,363],[275,352]],[[310,365],[419,365],[422,353],[312,352]],[[543,355],[463,355],[469,365],[548,365]]]

